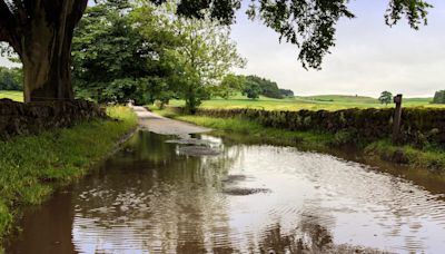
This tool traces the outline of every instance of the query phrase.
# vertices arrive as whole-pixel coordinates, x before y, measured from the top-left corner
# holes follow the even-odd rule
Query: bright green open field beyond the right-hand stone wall
[[[404,107],[445,107],[445,105],[429,104],[432,98],[405,98]],[[184,106],[184,100],[171,100],[170,106]],[[375,98],[360,96],[323,95],[310,97],[294,97],[273,99],[260,97],[257,100],[236,95],[230,99],[214,98],[202,101],[204,108],[256,108],[266,110],[339,110],[347,108],[386,108],[393,105],[382,105]]]

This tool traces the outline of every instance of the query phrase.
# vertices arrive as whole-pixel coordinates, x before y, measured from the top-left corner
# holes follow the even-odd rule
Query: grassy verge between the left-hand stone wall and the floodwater
[[[137,125],[129,108],[110,107],[107,113],[118,120],[92,120],[0,141],[0,240],[21,206],[40,204],[58,186],[83,176]]]

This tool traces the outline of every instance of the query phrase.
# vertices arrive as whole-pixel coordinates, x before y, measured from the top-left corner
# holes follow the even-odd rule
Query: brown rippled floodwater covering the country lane
[[[291,147],[137,133],[7,253],[443,253],[445,185]],[[395,169],[393,169],[395,170]]]

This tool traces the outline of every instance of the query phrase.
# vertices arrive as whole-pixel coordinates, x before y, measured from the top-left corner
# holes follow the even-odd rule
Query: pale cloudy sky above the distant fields
[[[248,20],[240,10],[231,37],[248,62],[236,72],[271,79],[297,96],[378,97],[389,90],[405,97],[432,97],[445,89],[445,2],[428,2],[434,4],[428,26],[416,31],[404,20],[393,28],[385,25],[388,0],[350,1],[356,18],[337,25],[336,46],[322,70],[305,70],[297,60],[298,48],[279,43],[277,33]],[[0,65],[9,63],[0,57]]]

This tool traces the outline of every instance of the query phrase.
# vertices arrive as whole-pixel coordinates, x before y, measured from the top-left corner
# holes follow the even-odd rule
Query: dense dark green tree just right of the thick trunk
[[[140,16],[141,8],[135,10],[128,1],[103,1],[87,10],[72,49],[79,97],[148,104],[168,90],[166,77],[172,68],[167,51],[177,38],[161,27],[152,9],[144,10]]]

